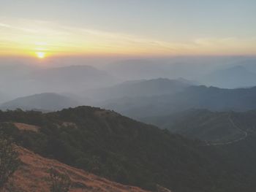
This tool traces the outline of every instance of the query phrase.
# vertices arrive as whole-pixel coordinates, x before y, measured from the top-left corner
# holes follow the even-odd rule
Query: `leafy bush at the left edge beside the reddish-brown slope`
[[[20,159],[12,139],[0,132],[0,189],[18,169]]]

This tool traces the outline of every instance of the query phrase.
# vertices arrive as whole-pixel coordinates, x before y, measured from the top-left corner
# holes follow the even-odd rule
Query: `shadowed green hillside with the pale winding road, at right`
[[[208,145],[214,146],[230,164],[236,164],[241,172],[255,175],[255,110],[249,112],[189,110],[144,120],[191,139],[206,139]],[[256,189],[253,186],[250,188]]]

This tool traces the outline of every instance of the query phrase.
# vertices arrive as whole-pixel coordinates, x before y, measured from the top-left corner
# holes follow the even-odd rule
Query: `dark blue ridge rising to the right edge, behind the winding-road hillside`
[[[102,105],[132,118],[162,116],[189,109],[246,111],[256,109],[256,87],[224,89],[191,86],[176,94],[112,99]]]

